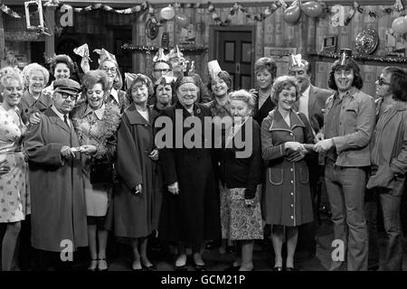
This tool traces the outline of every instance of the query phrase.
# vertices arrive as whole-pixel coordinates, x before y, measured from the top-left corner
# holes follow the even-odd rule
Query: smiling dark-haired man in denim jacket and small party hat
[[[341,51],[342,52],[342,51]],[[348,51],[349,52],[349,51]],[[316,136],[315,150],[325,154],[325,181],[334,222],[334,238],[342,241],[344,258],[332,260],[330,270],[367,270],[368,235],[364,219],[369,142],[374,129],[374,98],[360,91],[363,79],[343,52],[328,80],[335,90],[327,99],[324,127]]]

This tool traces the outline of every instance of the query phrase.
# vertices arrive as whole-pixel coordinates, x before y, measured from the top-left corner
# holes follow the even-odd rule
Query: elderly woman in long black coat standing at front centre
[[[160,150],[168,191],[163,195],[159,236],[178,242],[175,269],[185,270],[186,243],[193,247],[195,269],[205,270],[201,245],[204,240],[221,237],[219,195],[213,175],[213,151],[204,148],[204,117],[209,117],[211,121],[212,117],[209,107],[196,103],[198,87],[193,78],[177,79],[175,89],[178,102],[173,107],[166,108],[161,116],[166,117],[173,128],[168,129],[166,124],[156,135],[157,141],[163,135],[166,135],[167,140],[166,147]],[[162,124],[157,123],[158,119],[160,118],[156,120],[156,127],[161,127]],[[195,126],[184,127],[185,119],[196,122],[195,126],[201,126],[201,130]],[[211,123],[209,125],[212,126]],[[191,136],[192,133],[194,137]],[[212,134],[212,129],[208,134]],[[168,141],[167,137],[170,135],[172,137]],[[206,140],[208,137],[210,135],[206,135]],[[196,145],[187,144],[191,139]],[[164,145],[159,145],[160,148],[162,146]]]

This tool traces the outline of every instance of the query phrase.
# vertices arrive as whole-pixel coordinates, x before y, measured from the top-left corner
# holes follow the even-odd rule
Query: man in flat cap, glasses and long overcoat
[[[24,141],[32,193],[32,246],[43,251],[88,246],[80,153],[74,149],[80,144],[69,117],[79,92],[78,82],[55,80],[52,106]],[[60,262],[60,254],[48,256],[52,263]]]

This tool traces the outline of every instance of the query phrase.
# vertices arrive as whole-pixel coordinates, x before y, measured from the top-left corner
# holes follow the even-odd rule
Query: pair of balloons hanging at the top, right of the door
[[[302,4],[300,1],[294,1],[292,5],[284,11],[283,18],[284,21],[289,24],[296,24],[301,17],[301,12],[308,17],[319,17],[324,14],[325,9],[326,5],[324,3],[310,1]]]

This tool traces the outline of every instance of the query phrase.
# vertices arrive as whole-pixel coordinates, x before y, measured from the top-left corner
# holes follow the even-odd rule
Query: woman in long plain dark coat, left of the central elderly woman
[[[147,237],[158,226],[161,207],[161,184],[156,175],[158,150],[151,108],[147,106],[152,93],[151,79],[143,74],[133,75],[128,90],[133,103],[125,109],[118,127],[114,227],[116,236],[131,238],[133,270],[141,270],[142,266],[155,269],[147,257]]]

